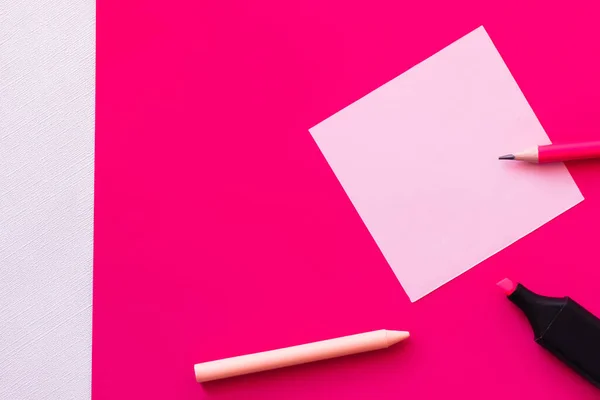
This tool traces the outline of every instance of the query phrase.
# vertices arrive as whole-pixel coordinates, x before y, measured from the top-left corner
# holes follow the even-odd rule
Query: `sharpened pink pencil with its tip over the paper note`
[[[532,163],[552,163],[600,158],[600,141],[537,146],[521,153],[506,154],[500,160],[519,160]]]

